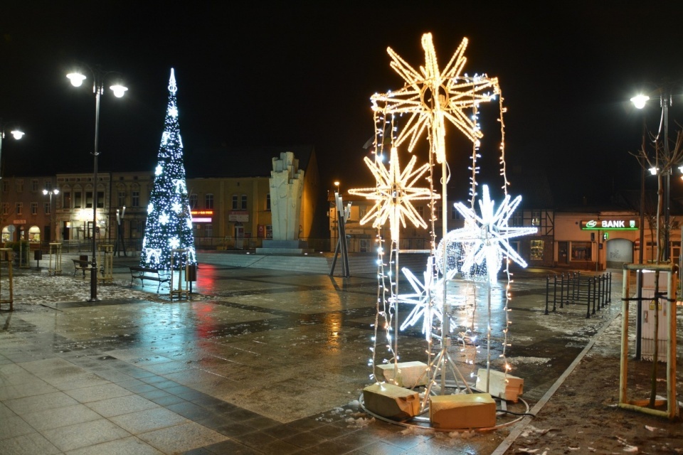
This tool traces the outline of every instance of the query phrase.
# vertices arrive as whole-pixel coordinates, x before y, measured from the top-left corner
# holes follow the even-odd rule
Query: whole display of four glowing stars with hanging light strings
[[[378,128],[377,123],[378,119],[383,120],[386,119],[387,116],[391,116],[392,118],[392,135],[390,141],[392,148],[391,161],[394,161],[393,156],[396,148],[405,141],[408,141],[408,151],[413,151],[418,139],[423,136],[425,131],[427,132],[430,144],[429,164],[425,165],[429,168],[429,176],[427,177],[429,188],[424,188],[425,191],[422,193],[422,196],[425,196],[426,198],[427,194],[430,195],[430,202],[428,205],[431,210],[430,235],[432,237],[432,242],[430,247],[432,254],[428,260],[426,270],[423,273],[425,277],[423,283],[420,283],[410,270],[403,269],[403,274],[415,291],[413,294],[399,295],[398,291],[394,291],[394,289],[398,289],[398,287],[392,285],[390,287],[391,296],[388,299],[386,298],[387,288],[384,286],[384,278],[391,277],[391,270],[388,274],[384,273],[383,267],[386,264],[383,260],[383,254],[385,248],[380,229],[381,226],[386,223],[386,220],[389,219],[391,223],[392,245],[394,245],[394,243],[396,244],[398,256],[398,222],[400,221],[403,227],[405,227],[406,218],[408,218],[413,224],[423,226],[419,223],[421,218],[413,219],[408,215],[408,213],[416,213],[412,205],[410,208],[404,206],[405,210],[403,211],[397,209],[396,205],[391,205],[392,199],[396,198],[396,192],[387,191],[387,183],[391,180],[388,177],[406,175],[408,173],[406,172],[408,168],[412,169],[415,157],[413,156],[408,168],[406,168],[406,171],[403,171],[403,173],[398,171],[398,158],[396,158],[396,168],[392,170],[390,166],[389,171],[386,171],[386,168],[383,166],[378,166],[377,156],[374,164],[371,164],[372,162],[369,159],[366,159],[366,164],[371,168],[371,171],[376,177],[377,186],[373,190],[370,188],[361,188],[360,190],[357,190],[356,194],[361,194],[362,196],[366,196],[366,198],[376,201],[374,208],[366,217],[364,217],[362,223],[374,219],[374,227],[378,229],[378,314],[380,313],[380,302],[386,304],[388,301],[390,304],[390,311],[386,311],[386,306],[382,306],[384,309],[384,311],[382,311],[383,316],[385,317],[386,314],[391,313],[391,310],[396,311],[395,308],[391,307],[392,303],[398,304],[400,302],[402,304],[413,304],[413,310],[411,311],[411,314],[408,315],[408,319],[403,321],[401,330],[408,328],[408,326],[411,326],[422,319],[422,331],[425,333],[429,343],[429,351],[431,351],[431,336],[445,338],[450,337],[450,333],[452,333],[450,330],[448,330],[448,333],[445,333],[443,330],[443,322],[451,321],[452,317],[450,314],[447,316],[440,310],[442,308],[450,308],[453,304],[452,302],[457,302],[462,299],[462,297],[457,299],[454,297],[449,298],[445,283],[448,282],[456,271],[462,272],[463,269],[465,269],[465,277],[468,279],[487,282],[489,285],[490,311],[490,285],[501,267],[502,257],[507,256],[522,265],[522,267],[526,267],[524,260],[517,255],[517,252],[514,252],[514,249],[512,249],[509,242],[507,242],[507,239],[536,232],[536,229],[509,228],[507,225],[509,218],[512,216],[512,212],[517,208],[517,205],[519,205],[520,198],[515,198],[511,202],[510,197],[507,194],[509,182],[507,181],[504,157],[505,143],[503,122],[503,114],[504,112],[507,112],[507,109],[503,107],[503,97],[498,96],[501,90],[497,78],[489,78],[486,75],[475,75],[474,77],[469,77],[466,74],[464,76],[460,75],[466,62],[464,57],[465,48],[467,47],[466,38],[462,40],[462,43],[443,71],[440,71],[438,68],[432,37],[429,33],[423,36],[422,44],[423,49],[425,50],[425,65],[420,67],[419,72],[408,65],[408,63],[391,50],[391,48],[388,48],[388,54],[392,59],[391,68],[396,70],[396,73],[401,75],[406,83],[401,90],[384,94],[375,94],[371,97],[371,106],[376,120],[374,153],[377,154],[378,151],[382,151],[383,146],[386,144],[386,138],[383,137],[383,133],[386,129],[384,127]],[[492,93],[490,92],[491,90]],[[501,124],[501,141],[499,145],[500,175],[503,178],[502,188],[504,191],[504,200],[498,210],[494,212],[494,205],[493,201],[489,198],[488,187],[484,186],[485,195],[484,198],[480,200],[480,211],[482,215],[479,216],[476,215],[473,210],[475,198],[477,196],[476,176],[477,173],[479,173],[477,159],[480,158],[479,148],[480,138],[482,137],[479,126],[478,107],[481,102],[489,102],[496,97],[499,98],[498,121]],[[472,114],[469,117],[465,114],[465,109],[472,109]],[[409,117],[407,122],[403,125],[401,132],[394,137],[393,132],[395,132],[396,129],[393,127],[393,116],[396,114],[409,114]],[[435,220],[437,217],[435,216],[435,210],[438,195],[433,191],[434,164],[432,159],[434,157],[443,167],[442,184],[444,190],[442,200],[444,203],[442,208],[443,219],[445,220],[448,215],[448,210],[445,208],[445,201],[447,200],[445,183],[448,181],[448,163],[445,160],[446,119],[454,124],[460,132],[465,134],[465,136],[472,141],[472,164],[470,166],[470,171],[472,171],[470,176],[471,209],[468,209],[462,203],[456,205],[456,209],[462,215],[465,215],[465,227],[460,230],[446,232],[444,223],[443,240],[437,247],[435,234]],[[384,121],[383,126],[386,126],[386,121]],[[382,155],[382,153],[379,154],[380,156]],[[396,152],[396,156],[398,156],[398,152]],[[421,166],[419,169],[422,170],[423,167],[424,166]],[[420,173],[420,176],[422,175],[423,173]],[[401,181],[401,179],[394,178],[393,181]],[[405,181],[403,181],[403,183],[405,183]],[[411,208],[413,210],[411,210]],[[394,218],[391,218],[392,215]],[[393,257],[393,247],[391,251]],[[398,258],[396,258],[396,261],[396,268],[398,269]],[[460,264],[461,262],[463,266],[458,268],[457,264]],[[390,260],[389,264],[391,263]],[[503,330],[504,343],[501,356],[504,358],[504,368],[507,372],[509,370],[509,365],[507,364],[507,360],[505,360],[505,353],[506,348],[509,346],[509,343],[507,343],[507,328],[510,323],[508,312],[509,300],[511,299],[509,289],[510,284],[512,283],[512,274],[509,272],[509,261],[505,261],[505,264],[504,272],[507,275],[504,304],[506,327]],[[441,274],[442,278],[439,277],[439,274]],[[486,279],[482,280],[482,277],[485,277]],[[443,295],[441,299],[439,299],[440,295]],[[475,306],[476,304],[472,306],[472,313],[475,311]],[[440,333],[432,333],[433,321],[442,322],[442,330]],[[463,325],[467,325],[465,321],[463,321]],[[378,324],[376,324],[376,329],[377,327]],[[388,331],[387,339],[391,341],[391,318],[385,321],[384,327],[386,331]],[[473,327],[472,323],[472,329]],[[489,316],[488,338],[490,338],[490,331]],[[472,343],[475,342],[476,335],[467,334],[471,332],[470,328],[467,327],[465,331],[459,333],[457,339],[459,342],[462,342],[463,346],[465,345],[465,338],[469,338]],[[374,337],[374,342],[376,343],[376,336]],[[391,342],[389,343],[388,348],[391,350]],[[433,354],[429,352],[428,355],[431,359]],[[397,358],[398,355],[395,355],[394,360]],[[371,362],[374,365],[374,355]],[[487,365],[489,365],[488,362]]]

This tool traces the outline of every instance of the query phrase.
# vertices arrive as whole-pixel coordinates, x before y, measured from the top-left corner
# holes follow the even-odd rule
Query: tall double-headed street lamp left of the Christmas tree
[[[90,67],[88,66],[90,73],[92,73],[92,92],[95,93],[95,151],[92,152],[94,159],[93,166],[93,178],[92,178],[92,269],[90,270],[90,301],[97,301],[97,237],[95,233],[97,232],[97,156],[100,154],[98,151],[98,143],[100,139],[100,95],[105,92],[105,79],[107,76],[115,74],[114,71],[103,71],[100,67]],[[69,73],[66,75],[71,81],[71,85],[74,87],[80,87],[83,85],[83,81],[86,79],[83,73]],[[120,84],[115,84],[110,87],[114,96],[117,98],[122,97],[127,87]]]

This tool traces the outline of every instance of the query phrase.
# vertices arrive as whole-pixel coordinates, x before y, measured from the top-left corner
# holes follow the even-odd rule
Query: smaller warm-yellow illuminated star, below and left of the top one
[[[403,228],[405,228],[406,218],[411,220],[416,227],[427,228],[427,223],[422,219],[418,210],[415,209],[412,201],[432,199],[438,197],[438,195],[432,194],[429,188],[413,188],[418,179],[429,170],[429,164],[423,164],[423,166],[413,170],[416,160],[417,157],[413,156],[411,161],[408,162],[408,166],[401,172],[396,147],[391,148],[391,159],[388,169],[384,164],[381,164],[379,159],[373,161],[367,156],[365,157],[365,163],[375,177],[377,185],[374,188],[349,190],[350,194],[365,196],[369,200],[376,201],[375,205],[361,219],[361,225],[374,218],[373,228],[380,228],[388,219],[391,240],[394,242],[398,241],[398,225],[401,223]]]

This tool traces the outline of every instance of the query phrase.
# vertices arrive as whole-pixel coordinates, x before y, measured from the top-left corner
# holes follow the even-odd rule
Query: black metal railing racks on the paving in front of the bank
[[[546,311],[549,314],[550,304],[552,311],[570,304],[585,304],[586,318],[590,318],[595,311],[605,308],[612,302],[612,272],[595,275],[593,277],[581,276],[581,272],[568,272],[559,275],[546,276]],[[591,311],[592,306],[592,311]]]

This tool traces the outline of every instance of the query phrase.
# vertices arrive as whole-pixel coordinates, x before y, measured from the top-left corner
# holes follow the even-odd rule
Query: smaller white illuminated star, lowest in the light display
[[[427,269],[423,272],[425,278],[424,282],[420,282],[410,269],[407,269],[406,267],[401,269],[415,291],[413,294],[398,294],[398,296],[396,296],[398,303],[414,305],[410,314],[408,314],[401,324],[401,330],[406,330],[406,328],[414,326],[422,319],[422,333],[425,336],[428,336],[434,319],[438,319],[439,322],[443,321],[443,305],[441,304],[443,298],[440,298],[443,295],[443,284],[445,281],[448,281],[448,279],[452,279],[453,275],[455,275],[455,270],[448,272],[446,280],[443,278],[435,279],[432,261],[433,258],[429,257]],[[447,298],[455,302],[453,296]],[[455,323],[453,326],[455,326]]]

